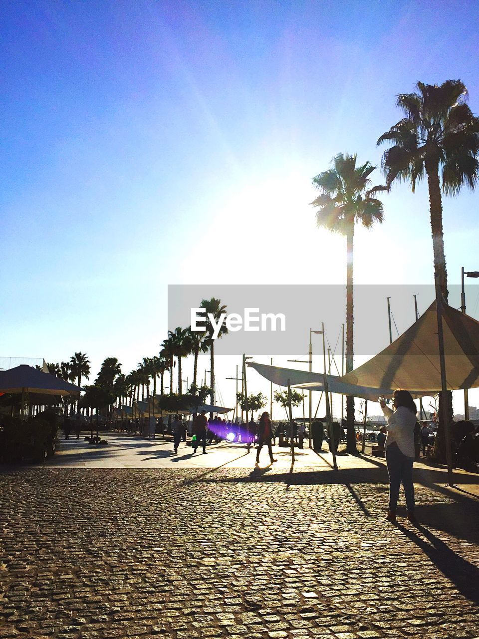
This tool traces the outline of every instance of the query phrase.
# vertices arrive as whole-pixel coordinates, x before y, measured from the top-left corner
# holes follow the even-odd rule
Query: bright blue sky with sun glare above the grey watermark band
[[[167,284],[344,281],[344,242],[316,230],[311,178],[338,151],[379,164],[395,95],[418,80],[462,79],[478,113],[478,12],[3,3],[0,354],[81,350],[94,374],[108,356],[128,372],[165,337]],[[444,210],[457,283],[462,265],[479,269],[477,196]],[[429,283],[425,188],[396,187],[384,214],[356,236],[356,281]]]

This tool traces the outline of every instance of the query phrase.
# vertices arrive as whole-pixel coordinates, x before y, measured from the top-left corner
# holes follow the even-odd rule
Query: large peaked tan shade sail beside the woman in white
[[[446,380],[450,390],[479,387],[479,322],[443,304]],[[436,302],[392,344],[341,378],[350,384],[441,390]]]

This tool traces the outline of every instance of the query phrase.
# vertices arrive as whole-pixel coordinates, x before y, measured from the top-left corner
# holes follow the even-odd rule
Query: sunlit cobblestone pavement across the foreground
[[[0,474],[0,639],[479,635],[479,500],[384,468]]]

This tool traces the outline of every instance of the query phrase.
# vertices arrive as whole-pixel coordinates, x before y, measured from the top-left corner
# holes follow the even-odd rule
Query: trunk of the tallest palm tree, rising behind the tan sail
[[[444,252],[443,234],[443,202],[441,197],[441,184],[439,182],[439,167],[426,166],[427,185],[429,188],[429,214],[432,235],[432,251],[434,254],[434,272],[439,280],[439,290],[448,300],[448,275],[446,270],[446,256]],[[445,416],[445,417],[444,417]],[[453,420],[452,392],[439,392],[439,420],[437,422],[437,436],[434,443],[434,458],[437,461],[446,461],[446,437],[445,423]]]

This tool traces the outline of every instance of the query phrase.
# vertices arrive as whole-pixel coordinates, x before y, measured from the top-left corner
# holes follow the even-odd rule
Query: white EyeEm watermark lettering
[[[241,316],[239,313],[222,313],[215,319],[212,313],[206,313],[206,309],[191,309],[191,330],[204,333],[206,331],[206,318],[213,328],[213,339],[217,339],[223,324],[229,332],[245,330],[247,332],[286,330],[286,317],[283,313],[261,313],[259,308],[246,308]],[[269,326],[268,326],[269,325]]]

